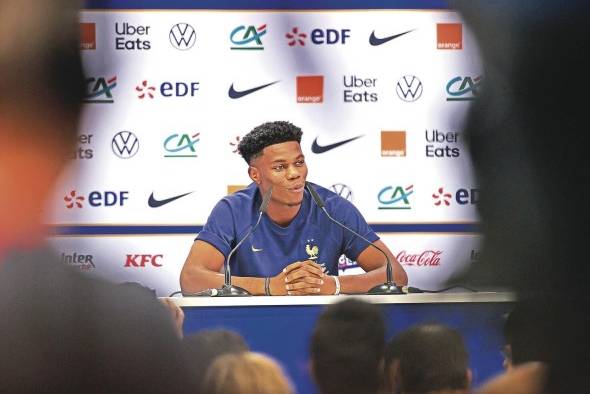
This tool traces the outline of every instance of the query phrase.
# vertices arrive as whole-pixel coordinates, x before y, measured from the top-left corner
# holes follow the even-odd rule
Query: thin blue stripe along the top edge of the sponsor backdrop
[[[344,10],[447,9],[446,0],[86,0],[86,9]]]

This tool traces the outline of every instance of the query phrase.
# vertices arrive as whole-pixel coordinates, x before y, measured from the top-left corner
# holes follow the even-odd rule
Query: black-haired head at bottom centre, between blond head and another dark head
[[[379,308],[357,299],[332,304],[311,340],[311,370],[322,394],[377,393],[385,324]]]

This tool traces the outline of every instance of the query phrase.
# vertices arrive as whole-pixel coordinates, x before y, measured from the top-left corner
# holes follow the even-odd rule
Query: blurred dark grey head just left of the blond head
[[[193,393],[200,392],[208,368],[224,354],[238,354],[249,350],[244,338],[229,330],[203,330],[184,337],[184,363],[192,382]]]

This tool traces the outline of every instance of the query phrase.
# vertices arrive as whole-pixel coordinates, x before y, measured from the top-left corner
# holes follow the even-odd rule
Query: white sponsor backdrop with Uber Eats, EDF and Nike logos
[[[411,285],[477,260],[463,123],[482,67],[455,12],[86,9],[80,31],[85,112],[47,211],[64,263],[178,290],[210,210],[249,183],[237,143],[270,120],[303,129],[308,179],[360,209]]]

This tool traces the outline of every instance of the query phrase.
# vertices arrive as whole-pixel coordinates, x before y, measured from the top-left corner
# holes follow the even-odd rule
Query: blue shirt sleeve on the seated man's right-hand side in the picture
[[[346,226],[361,234],[371,242],[379,239],[377,234],[369,226],[360,211],[348,200],[338,197],[335,206],[335,218]],[[343,229],[343,252],[351,260],[356,260],[363,250],[369,247],[367,242],[349,231]]]

